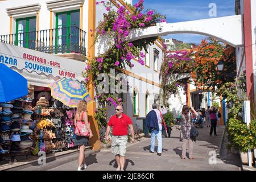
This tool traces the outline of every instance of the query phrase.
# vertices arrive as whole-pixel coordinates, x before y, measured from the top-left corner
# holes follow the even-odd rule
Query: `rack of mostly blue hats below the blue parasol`
[[[10,164],[15,156],[24,155],[26,159],[33,144],[31,139],[31,115],[34,114],[30,96],[0,103],[0,156],[9,157]],[[3,158],[2,158],[3,159]]]

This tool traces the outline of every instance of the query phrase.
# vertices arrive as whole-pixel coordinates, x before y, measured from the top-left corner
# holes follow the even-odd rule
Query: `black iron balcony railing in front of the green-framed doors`
[[[85,31],[71,26],[0,35],[0,42],[45,53],[75,52],[86,56],[85,35]]]

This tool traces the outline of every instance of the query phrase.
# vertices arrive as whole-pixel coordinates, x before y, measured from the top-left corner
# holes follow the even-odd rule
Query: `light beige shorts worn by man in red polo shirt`
[[[112,136],[112,144],[111,144],[112,153],[114,155],[125,156],[127,140],[128,140],[127,135],[123,135],[123,136],[114,136],[113,135]]]

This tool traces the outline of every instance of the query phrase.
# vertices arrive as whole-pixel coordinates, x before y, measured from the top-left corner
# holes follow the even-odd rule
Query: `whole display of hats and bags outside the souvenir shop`
[[[49,98],[51,95],[44,96],[46,92],[37,92],[28,84],[27,96],[0,103],[0,160],[7,158],[13,164],[18,156],[27,159],[39,151],[48,153],[74,147],[76,109]]]

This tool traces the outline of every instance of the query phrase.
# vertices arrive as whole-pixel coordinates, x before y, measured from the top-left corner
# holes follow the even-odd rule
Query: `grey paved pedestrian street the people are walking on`
[[[174,129],[171,138],[163,138],[163,153],[162,156],[149,153],[150,138],[142,138],[141,141],[129,144],[127,147],[127,160],[125,169],[127,171],[138,170],[196,170],[196,171],[225,171],[225,170],[240,170],[239,156],[226,154],[225,142],[222,146],[221,156],[218,155],[218,150],[221,145],[224,127],[217,127],[218,137],[209,137],[209,128],[204,127],[199,129],[199,137],[194,143],[193,153],[194,160],[188,158],[182,160],[181,143],[179,142],[179,130]],[[157,145],[156,145],[157,147]],[[156,150],[156,148],[155,148]],[[216,164],[209,164],[209,158],[217,151]],[[89,154],[92,151],[86,151],[86,163],[88,164],[87,171],[113,171],[117,167],[114,160],[114,155],[110,150],[103,150],[96,154]],[[210,152],[210,155],[209,155]],[[88,156],[89,155],[89,156]],[[188,155],[188,154],[187,154]],[[72,171],[77,169],[78,153],[74,152],[69,155],[64,155],[60,159],[50,159],[46,165],[39,166],[38,164],[30,164],[10,170],[65,170]],[[213,160],[210,160],[213,163]]]

